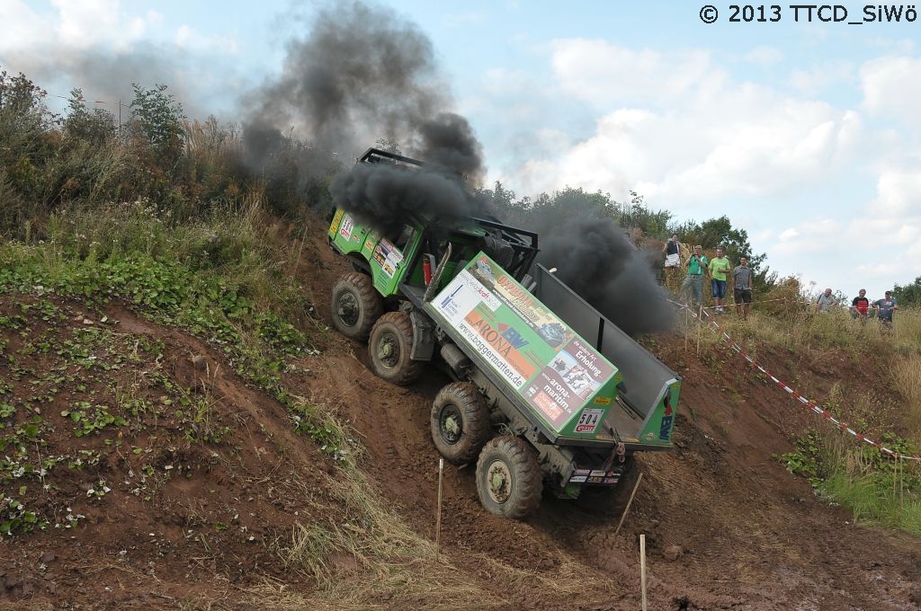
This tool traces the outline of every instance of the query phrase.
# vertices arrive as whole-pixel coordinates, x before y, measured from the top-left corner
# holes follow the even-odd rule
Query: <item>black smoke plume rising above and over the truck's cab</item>
[[[431,41],[388,8],[361,2],[322,8],[307,36],[288,45],[283,74],[255,92],[248,106],[248,158],[261,171],[277,155],[277,147],[262,144],[279,141],[285,130],[343,160],[379,141],[397,143],[436,170],[430,175],[378,164],[337,177],[337,203],[372,225],[401,225],[411,212],[479,209],[465,195],[469,188],[451,176],[478,186],[482,147],[470,123],[450,111]]]

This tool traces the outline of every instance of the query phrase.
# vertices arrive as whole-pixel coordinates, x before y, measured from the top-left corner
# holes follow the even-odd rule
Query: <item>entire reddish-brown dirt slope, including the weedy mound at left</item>
[[[322,237],[305,244],[299,274],[328,320],[327,295],[347,268]],[[4,354],[17,358],[0,363],[8,385],[0,399],[29,403],[18,425],[41,414],[48,445],[27,439],[30,459],[87,460],[79,468],[64,468],[64,460],[48,472],[51,500],[36,507],[52,516],[47,531],[0,543],[0,608],[251,608],[265,584],[310,594],[313,584],[286,567],[277,542],[307,517],[332,520],[339,511],[324,491],[332,459],[200,340],[122,305],[52,305],[48,315],[0,300],[0,317],[21,318],[2,327]],[[100,330],[83,360],[57,353],[68,341],[86,344],[87,329]],[[22,353],[40,345],[37,338],[52,349]],[[362,467],[373,485],[416,532],[434,538],[437,453],[428,413],[448,380],[432,373],[411,388],[391,386],[367,370],[364,346],[332,332],[322,341],[321,355],[293,363],[287,384],[351,423],[367,447]],[[717,382],[683,340],[663,338],[657,351],[685,380],[678,450],[641,456],[618,492],[545,498],[529,521],[511,523],[484,513],[472,468],[446,467],[443,553],[484,593],[454,608],[638,609],[641,533],[652,609],[921,608],[917,541],[849,524],[771,459],[791,449],[789,433],[808,415],[728,355],[706,357],[725,358],[722,371],[732,372]],[[796,357],[764,361],[790,375],[784,363]],[[810,379],[815,387],[833,381],[828,371]],[[72,427],[83,421],[61,415],[80,401],[111,407],[116,399],[138,401],[130,426],[77,438]],[[199,443],[207,436],[220,443]],[[639,472],[633,507],[614,536]],[[40,478],[29,478],[25,491],[20,484],[4,481],[2,491],[45,498],[36,492]],[[110,491],[87,494],[103,487]],[[681,548],[677,559],[666,558],[672,546]],[[354,570],[347,559],[338,565],[344,574]],[[368,605],[437,607],[389,596]]]

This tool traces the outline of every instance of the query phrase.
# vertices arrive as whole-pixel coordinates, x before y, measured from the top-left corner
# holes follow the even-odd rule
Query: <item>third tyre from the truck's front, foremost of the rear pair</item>
[[[455,465],[472,462],[493,435],[486,401],[470,382],[454,382],[438,392],[431,425],[438,453]]]

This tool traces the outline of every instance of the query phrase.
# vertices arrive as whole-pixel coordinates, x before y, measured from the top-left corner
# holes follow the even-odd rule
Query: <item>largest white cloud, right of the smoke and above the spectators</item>
[[[554,66],[567,90],[600,102],[611,85],[591,84],[604,72],[604,79],[616,78],[633,98],[672,96],[669,110],[654,110],[657,105],[650,102],[646,108],[632,105],[608,112],[589,138],[553,159],[531,160],[518,176],[507,177],[519,189],[554,190],[568,184],[621,195],[635,188],[670,207],[722,196],[777,196],[832,176],[861,141],[856,112],[732,82],[702,59],[705,53],[687,57],[696,58],[689,61],[716,77],[694,83],[685,79],[665,93],[660,84],[672,79],[674,66],[662,55],[641,57],[644,53],[620,48],[606,52],[603,43],[592,42],[589,46],[599,57],[636,60],[634,68],[643,74],[626,75],[632,70],[629,65],[587,64],[579,75],[572,54],[574,49],[585,52],[584,44],[557,44]],[[565,71],[559,70],[561,65]],[[620,70],[624,75],[610,75]]]

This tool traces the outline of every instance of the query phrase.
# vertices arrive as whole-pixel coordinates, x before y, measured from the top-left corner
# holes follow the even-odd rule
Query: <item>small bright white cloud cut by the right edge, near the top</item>
[[[869,112],[916,124],[921,107],[921,59],[882,57],[864,63],[860,85]]]

